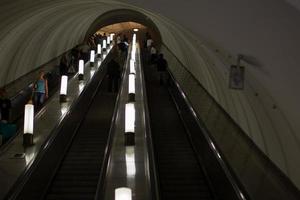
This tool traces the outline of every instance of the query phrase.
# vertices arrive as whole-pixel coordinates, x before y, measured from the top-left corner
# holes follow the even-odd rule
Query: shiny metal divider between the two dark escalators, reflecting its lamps
[[[130,53],[129,53],[130,54]],[[136,62],[140,66],[139,51],[137,51]],[[149,178],[149,158],[145,134],[145,110],[143,106],[144,96],[142,84],[136,84],[136,124],[135,145],[126,147],[124,145],[124,122],[125,104],[128,100],[128,74],[129,59],[127,60],[125,76],[120,91],[118,111],[114,126],[114,138],[110,152],[109,163],[105,181],[105,198],[114,199],[114,191],[119,187],[132,189],[132,199],[151,199],[151,188]],[[142,83],[140,67],[136,69],[136,83]]]

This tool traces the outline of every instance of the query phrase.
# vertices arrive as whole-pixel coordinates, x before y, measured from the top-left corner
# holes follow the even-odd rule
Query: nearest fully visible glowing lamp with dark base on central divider
[[[135,144],[135,106],[134,103],[125,104],[125,145]]]

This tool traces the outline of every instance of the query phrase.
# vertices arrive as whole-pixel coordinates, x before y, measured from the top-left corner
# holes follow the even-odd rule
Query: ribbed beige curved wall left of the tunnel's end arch
[[[1,1],[0,85],[81,43],[90,24],[119,6],[97,1]]]

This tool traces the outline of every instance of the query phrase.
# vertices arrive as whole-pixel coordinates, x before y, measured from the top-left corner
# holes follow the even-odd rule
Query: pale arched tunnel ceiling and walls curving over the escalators
[[[298,5],[295,0],[2,0],[0,85],[115,23],[122,16],[114,14],[116,10],[131,9],[142,17],[127,13],[127,21],[134,17],[157,27],[165,46],[300,188]],[[248,90],[231,91],[226,87],[228,65],[240,53],[255,64],[243,62]],[[208,65],[207,59],[215,65]],[[244,120],[249,113],[243,108],[251,107],[250,114],[258,115],[259,108],[248,98],[256,92],[257,102],[265,106],[259,112],[272,124],[267,131],[251,129],[251,123],[264,128],[259,120]],[[274,105],[277,109],[271,110]]]

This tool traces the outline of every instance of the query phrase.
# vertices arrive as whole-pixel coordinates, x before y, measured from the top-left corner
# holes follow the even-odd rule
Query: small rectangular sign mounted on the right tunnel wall
[[[230,75],[229,75],[229,88],[231,89],[244,89],[244,80],[245,80],[245,67],[231,65],[230,66]]]

